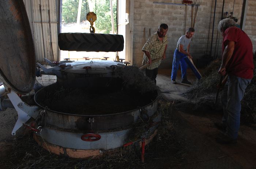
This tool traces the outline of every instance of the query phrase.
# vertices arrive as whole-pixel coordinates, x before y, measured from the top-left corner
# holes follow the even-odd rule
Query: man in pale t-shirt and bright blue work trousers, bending
[[[187,68],[188,65],[185,62],[184,58],[192,56],[189,54],[190,41],[192,36],[195,33],[194,28],[188,28],[186,35],[182,35],[178,40],[177,47],[174,51],[173,55],[173,66],[172,66],[172,83],[176,84],[176,76],[177,71],[179,69],[179,65],[181,66],[181,83],[191,84],[187,79]]]

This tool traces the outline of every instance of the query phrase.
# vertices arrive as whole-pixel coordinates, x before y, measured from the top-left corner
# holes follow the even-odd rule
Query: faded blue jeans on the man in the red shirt
[[[241,100],[251,79],[229,76],[223,87],[221,103],[223,106],[222,122],[226,125],[226,134],[237,139],[240,128]]]

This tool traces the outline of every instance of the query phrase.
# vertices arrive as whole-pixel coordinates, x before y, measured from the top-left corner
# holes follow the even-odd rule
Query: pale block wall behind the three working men
[[[149,29],[151,34],[158,30],[161,23],[166,23],[169,26],[167,32],[168,45],[166,56],[160,68],[170,68],[173,52],[177,45],[177,40],[184,35],[184,29],[191,27],[192,7],[187,6],[187,17],[185,26],[185,5],[173,5],[170,3],[182,3],[182,0],[163,0],[161,3],[169,4],[155,4],[153,2],[158,0],[134,0],[134,23],[133,23],[133,65],[138,67],[142,63],[142,47],[144,46],[143,29],[146,29],[146,40],[148,38]],[[160,2],[160,1],[159,1]],[[243,1],[225,0],[223,13],[233,11],[233,16],[237,17],[238,24],[241,21]],[[217,0],[215,12],[214,34],[212,38],[212,25],[214,17],[215,0],[203,0],[198,7],[195,35],[193,36],[190,52],[193,60],[196,63],[197,59],[202,58],[203,55],[208,54],[213,57],[221,57],[222,35],[218,32],[218,23],[221,20],[223,0]],[[195,13],[196,7],[193,8]],[[245,22],[245,32],[252,40],[253,48],[256,50],[256,1],[248,1],[248,9]],[[194,17],[194,16],[193,16]],[[211,43],[212,42],[212,43]],[[211,51],[211,54],[210,54]]]

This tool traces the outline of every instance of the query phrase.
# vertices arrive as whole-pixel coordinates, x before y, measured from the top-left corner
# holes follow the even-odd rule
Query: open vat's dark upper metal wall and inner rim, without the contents
[[[57,91],[57,89],[63,89],[62,87],[96,87],[98,89],[106,86],[112,86],[116,84],[117,86],[120,85],[118,80],[114,80],[112,84],[110,84],[111,79],[118,79],[118,78],[81,78],[81,79],[74,79],[74,80],[67,80],[64,82],[59,82],[55,84],[51,84],[49,86],[44,87],[43,89],[39,90],[35,96],[35,102],[41,106],[46,107],[47,105],[42,105],[46,99],[49,99],[46,95],[47,92],[53,93]],[[77,83],[79,81],[80,83]],[[63,86],[65,84],[65,86]],[[58,86],[59,85],[59,86]],[[115,87],[117,88],[117,87]],[[62,113],[58,111],[53,111],[51,107],[46,107],[46,116],[45,122],[49,125],[53,125],[56,127],[64,128],[64,129],[76,129],[76,130],[106,130],[106,129],[115,129],[118,127],[128,126],[132,123],[137,122],[140,117],[142,116],[140,109],[146,109],[147,115],[150,117],[155,114],[157,111],[157,104],[158,104],[158,93],[157,91],[151,93],[150,95],[146,95],[147,99],[149,100],[147,104],[143,105],[140,108],[123,111],[121,113],[113,113],[113,114],[102,114],[99,115],[97,112],[95,114],[73,114],[73,113]],[[72,106],[72,105],[70,105]],[[86,106],[86,105],[85,105]],[[98,105],[100,106],[100,105]],[[116,103],[113,103],[113,107],[117,106]],[[53,107],[52,107],[53,108]],[[88,122],[89,118],[94,118],[94,122],[91,126],[91,123]]]

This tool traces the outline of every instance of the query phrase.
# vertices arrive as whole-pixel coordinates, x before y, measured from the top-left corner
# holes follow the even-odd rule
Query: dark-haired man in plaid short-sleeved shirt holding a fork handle
[[[165,59],[165,51],[167,48],[167,36],[166,33],[168,31],[168,25],[162,23],[158,27],[158,31],[152,34],[146,44],[143,46],[142,51],[144,52],[143,62],[146,61],[149,63],[149,66],[146,67],[146,75],[152,79],[155,83],[157,83],[157,73],[158,66],[161,64],[161,60],[156,62],[152,62],[155,59],[163,58]]]

